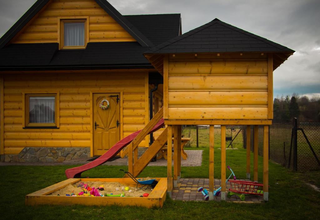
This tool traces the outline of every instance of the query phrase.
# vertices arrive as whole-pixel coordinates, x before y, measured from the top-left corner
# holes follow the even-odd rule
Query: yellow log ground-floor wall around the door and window
[[[4,153],[17,154],[24,147],[90,147],[90,92],[109,90],[123,91],[123,137],[142,129],[149,120],[147,72],[4,74]],[[57,91],[60,128],[23,129],[22,93]],[[140,147],[145,146],[143,140]]]

